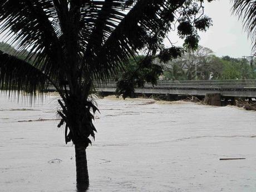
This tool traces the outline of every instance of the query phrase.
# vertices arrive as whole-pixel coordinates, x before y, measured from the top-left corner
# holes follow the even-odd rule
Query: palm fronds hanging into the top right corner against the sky
[[[253,50],[256,54],[256,1],[232,0],[233,13],[243,19],[244,29],[252,37]]]

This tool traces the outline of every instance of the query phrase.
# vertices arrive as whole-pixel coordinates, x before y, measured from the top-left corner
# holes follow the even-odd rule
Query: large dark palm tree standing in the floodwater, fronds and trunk
[[[3,40],[29,50],[26,55],[0,52],[1,90],[29,95],[31,102],[48,83],[60,93],[58,127],[65,126],[66,143],[75,145],[79,188],[89,184],[86,147],[96,132],[93,82],[105,82],[131,57],[154,46],[176,14],[193,3],[202,7],[203,0],[0,0]],[[179,31],[196,43],[187,21]]]

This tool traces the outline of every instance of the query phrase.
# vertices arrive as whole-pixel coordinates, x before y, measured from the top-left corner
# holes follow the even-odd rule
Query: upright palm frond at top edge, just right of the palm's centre
[[[101,46],[117,24],[124,18],[124,1],[90,1],[81,9],[80,38],[82,46],[89,50]]]

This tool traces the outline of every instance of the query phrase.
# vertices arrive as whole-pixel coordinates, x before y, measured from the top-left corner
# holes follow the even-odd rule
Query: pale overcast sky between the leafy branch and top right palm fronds
[[[238,21],[237,16],[232,16],[231,8],[232,4],[229,0],[205,3],[205,13],[213,19],[213,26],[207,32],[200,33],[200,45],[210,48],[219,57],[249,56],[252,41],[248,40],[247,33],[243,31],[242,21]],[[171,40],[178,41],[177,44],[182,45],[183,41],[173,33],[169,35]]]

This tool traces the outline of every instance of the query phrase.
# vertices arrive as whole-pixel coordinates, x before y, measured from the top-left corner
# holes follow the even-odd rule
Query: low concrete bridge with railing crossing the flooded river
[[[116,83],[110,81],[96,86],[99,92],[114,93]],[[156,94],[172,97],[175,95],[205,96],[218,93],[221,97],[256,97],[256,80],[208,80],[208,81],[158,81],[156,86],[146,83],[144,88],[136,88],[136,93]]]

